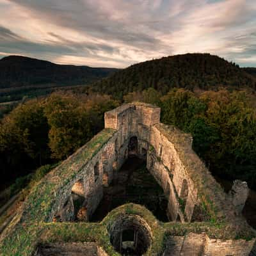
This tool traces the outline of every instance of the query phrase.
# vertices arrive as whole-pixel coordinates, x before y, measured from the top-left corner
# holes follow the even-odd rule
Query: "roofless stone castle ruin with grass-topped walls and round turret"
[[[255,255],[255,230],[241,214],[248,187],[236,181],[226,194],[193,138],[161,124],[160,111],[132,103],[105,113],[105,129],[33,189],[1,238],[1,255]],[[104,186],[132,155],[163,188],[170,221],[129,203],[91,222]]]

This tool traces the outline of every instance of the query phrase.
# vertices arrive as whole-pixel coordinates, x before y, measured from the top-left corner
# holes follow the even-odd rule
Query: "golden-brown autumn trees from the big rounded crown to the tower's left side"
[[[52,93],[45,100],[52,157],[63,159],[81,147],[104,127],[104,113],[118,102],[106,95],[79,97],[72,93]]]

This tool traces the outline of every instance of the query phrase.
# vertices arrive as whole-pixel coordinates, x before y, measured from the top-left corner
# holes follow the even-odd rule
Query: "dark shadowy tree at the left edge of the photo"
[[[3,119],[0,130],[0,149],[26,153],[42,161],[49,156],[47,134],[49,126],[39,100],[20,104]]]

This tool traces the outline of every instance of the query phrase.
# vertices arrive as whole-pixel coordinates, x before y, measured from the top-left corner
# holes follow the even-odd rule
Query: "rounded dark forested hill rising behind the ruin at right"
[[[256,77],[236,63],[208,53],[163,57],[132,65],[92,84],[95,91],[122,94],[153,87],[167,93],[172,88],[210,90],[217,87],[256,89]]]

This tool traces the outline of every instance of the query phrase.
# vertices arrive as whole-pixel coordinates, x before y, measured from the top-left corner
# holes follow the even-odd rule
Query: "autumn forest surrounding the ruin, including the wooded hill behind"
[[[173,72],[179,76],[172,78]],[[161,122],[192,134],[195,152],[213,175],[246,180],[256,189],[254,88],[252,76],[234,63],[185,54],[131,66],[90,88],[18,102],[0,124],[1,189],[66,159],[103,129],[104,112],[132,101],[161,107]]]

